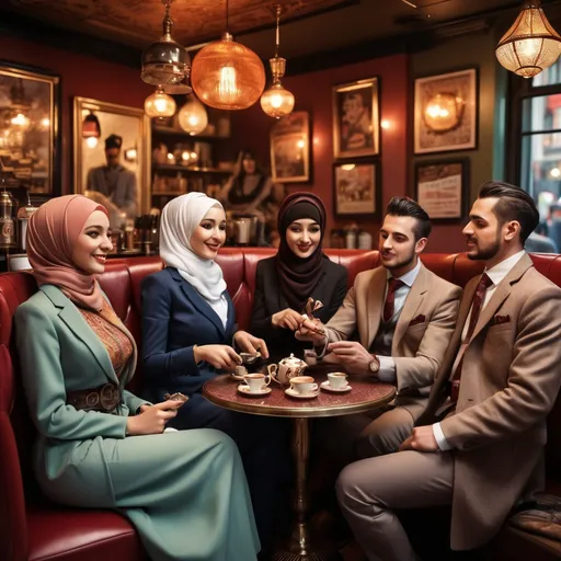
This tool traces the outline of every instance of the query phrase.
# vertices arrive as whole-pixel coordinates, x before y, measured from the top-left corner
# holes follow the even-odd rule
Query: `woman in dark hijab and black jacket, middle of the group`
[[[323,305],[314,317],[327,323],[339,309],[347,286],[346,268],[322,250],[325,208],[312,193],[288,195],[278,213],[278,253],[260,261],[251,330],[265,339],[273,360],[290,353],[304,358],[311,343],[297,341],[308,298]]]

